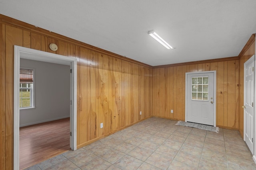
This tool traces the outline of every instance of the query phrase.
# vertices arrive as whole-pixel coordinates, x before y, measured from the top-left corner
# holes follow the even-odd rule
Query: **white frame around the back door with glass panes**
[[[186,72],[186,86],[185,86],[185,121],[187,121],[187,104],[188,104],[188,92],[187,92],[187,87],[188,87],[188,80],[187,80],[187,77],[188,77],[188,74],[201,74],[201,73],[213,73],[214,74],[214,92],[213,92],[213,125],[214,127],[216,127],[216,70],[213,70],[213,71],[201,71],[201,72]]]

